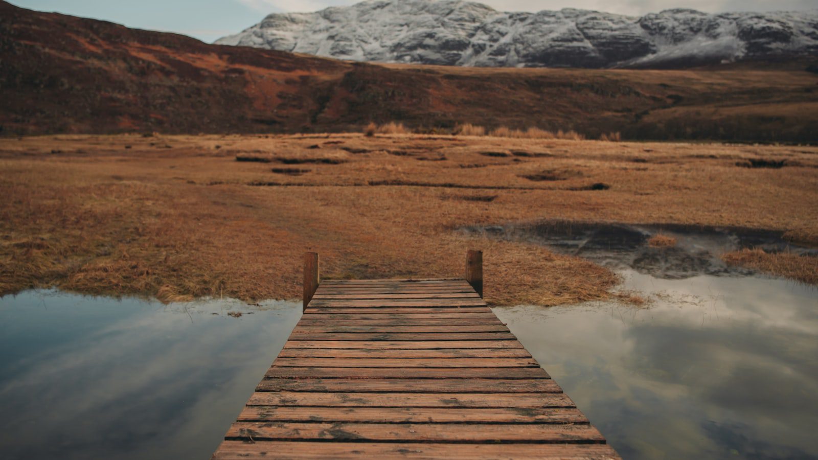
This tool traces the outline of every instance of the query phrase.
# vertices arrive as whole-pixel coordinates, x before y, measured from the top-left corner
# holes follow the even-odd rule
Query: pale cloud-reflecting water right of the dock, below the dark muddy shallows
[[[623,273],[650,308],[495,309],[623,458],[818,457],[818,289]]]

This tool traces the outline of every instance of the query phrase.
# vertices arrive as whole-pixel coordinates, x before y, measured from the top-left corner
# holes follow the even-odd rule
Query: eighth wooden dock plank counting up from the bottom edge
[[[524,348],[512,349],[446,349],[446,350],[337,350],[285,348],[278,354],[281,358],[370,358],[370,359],[452,359],[452,358],[531,358]]]

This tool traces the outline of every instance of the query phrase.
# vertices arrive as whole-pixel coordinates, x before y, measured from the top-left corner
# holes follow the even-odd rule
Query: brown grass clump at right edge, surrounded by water
[[[727,264],[755,268],[764,273],[788,277],[807,284],[818,284],[818,256],[815,255],[743,249],[722,255],[721,259]]]

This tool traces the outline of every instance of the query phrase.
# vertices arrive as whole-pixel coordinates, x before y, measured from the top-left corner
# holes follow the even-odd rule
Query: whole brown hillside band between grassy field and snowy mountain
[[[41,13],[0,2],[0,134],[297,133],[402,121],[429,132],[816,141],[808,62],[719,70],[371,65]]]

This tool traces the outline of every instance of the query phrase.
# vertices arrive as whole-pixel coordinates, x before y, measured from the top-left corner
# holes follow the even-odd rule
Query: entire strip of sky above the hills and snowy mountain
[[[128,27],[165,30],[212,42],[281,11],[315,11],[355,0],[11,0],[18,7],[110,20]],[[818,0],[484,0],[501,11],[584,8],[643,15],[668,8],[699,11],[797,11],[818,8]]]

